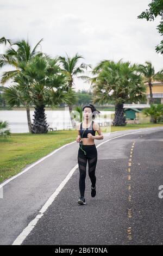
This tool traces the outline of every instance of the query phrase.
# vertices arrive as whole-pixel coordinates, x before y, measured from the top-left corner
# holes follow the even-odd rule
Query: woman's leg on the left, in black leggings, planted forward
[[[86,164],[87,159],[78,154],[78,164],[79,164],[79,190],[80,190],[80,197],[84,197],[85,192],[85,178],[86,178]]]

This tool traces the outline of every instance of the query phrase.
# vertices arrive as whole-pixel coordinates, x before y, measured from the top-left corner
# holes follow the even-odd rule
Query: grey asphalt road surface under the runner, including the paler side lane
[[[130,132],[112,133],[96,145]],[[78,144],[72,143],[4,186],[1,245],[12,244],[35,218],[77,164],[77,150]],[[87,174],[86,204],[77,204],[77,168],[22,245],[163,244],[163,198],[158,196],[163,185],[163,129],[112,139],[97,152],[96,197],[91,198]]]

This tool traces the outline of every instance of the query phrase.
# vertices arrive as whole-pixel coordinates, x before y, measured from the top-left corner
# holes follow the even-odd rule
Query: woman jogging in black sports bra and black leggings
[[[86,178],[86,164],[89,164],[89,177],[91,180],[91,196],[96,196],[96,163],[97,163],[97,149],[94,139],[103,139],[104,136],[98,123],[92,121],[96,114],[100,112],[92,104],[85,105],[82,108],[84,121],[77,126],[78,137],[76,141],[79,142],[78,150],[78,164],[79,164],[79,190],[80,197],[78,204],[85,204],[85,178]],[[96,131],[98,135],[95,136]]]

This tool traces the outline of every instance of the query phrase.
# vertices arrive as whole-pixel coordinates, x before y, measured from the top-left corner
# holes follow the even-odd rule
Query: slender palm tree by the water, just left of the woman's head
[[[67,53],[66,53],[67,55]],[[72,58],[70,58],[67,55],[66,57],[58,57],[60,63],[62,64],[62,71],[65,73],[65,75],[67,76],[68,79],[68,87],[72,88],[74,86],[74,78],[81,78],[83,80],[85,80],[86,78],[89,78],[88,76],[78,76],[79,74],[84,73],[88,67],[91,68],[91,65],[87,65],[85,63],[82,63],[80,65],[78,65],[78,60],[79,59],[84,59],[82,56],[78,55],[78,53],[76,53],[76,55]],[[72,127],[76,127],[76,123],[74,122],[73,119],[73,115],[72,115],[72,103],[70,103],[68,105],[69,108],[69,112],[70,112],[70,117],[71,117],[71,123],[72,123]]]

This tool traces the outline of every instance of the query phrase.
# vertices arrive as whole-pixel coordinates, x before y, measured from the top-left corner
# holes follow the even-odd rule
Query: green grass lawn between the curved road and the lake
[[[128,124],[122,127],[111,126],[111,132],[158,126],[163,126],[163,123]],[[101,127],[101,130],[105,132],[105,127]],[[12,133],[11,137],[7,139],[0,137],[0,182],[16,175],[28,164],[39,160],[62,145],[75,141],[76,137],[76,130],[51,131],[41,135]]]

